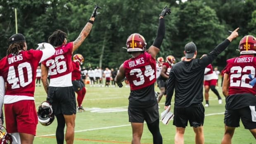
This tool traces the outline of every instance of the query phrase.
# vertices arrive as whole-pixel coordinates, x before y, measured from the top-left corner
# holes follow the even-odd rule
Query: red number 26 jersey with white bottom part
[[[73,42],[55,48],[55,54],[42,62],[49,68],[50,85],[53,87],[72,86],[71,72],[73,71],[72,50]]]

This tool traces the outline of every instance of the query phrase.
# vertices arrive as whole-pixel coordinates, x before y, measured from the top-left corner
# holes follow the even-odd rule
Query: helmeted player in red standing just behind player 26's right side
[[[75,54],[73,56],[73,71],[72,71],[72,84],[73,89],[77,94],[77,110],[78,112],[85,111],[82,106],[83,98],[85,97],[86,89],[83,80],[81,80],[81,66],[83,64],[83,56],[81,54]]]

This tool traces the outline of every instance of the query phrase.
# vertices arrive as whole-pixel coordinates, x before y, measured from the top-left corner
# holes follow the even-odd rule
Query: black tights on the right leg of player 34
[[[163,144],[163,138],[159,130],[159,119],[154,123],[147,123],[147,127],[153,135],[153,144]]]

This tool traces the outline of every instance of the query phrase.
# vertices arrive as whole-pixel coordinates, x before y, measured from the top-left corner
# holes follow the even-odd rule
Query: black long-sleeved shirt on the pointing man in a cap
[[[166,103],[171,104],[175,90],[176,108],[188,107],[191,104],[203,102],[204,69],[230,44],[228,39],[221,42],[209,54],[201,59],[180,61],[170,71],[166,90]]]

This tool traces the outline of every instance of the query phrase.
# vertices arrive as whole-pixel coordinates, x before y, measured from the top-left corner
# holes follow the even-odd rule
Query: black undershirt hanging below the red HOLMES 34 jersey
[[[154,84],[139,90],[131,90],[129,106],[137,108],[147,108],[157,103]]]

